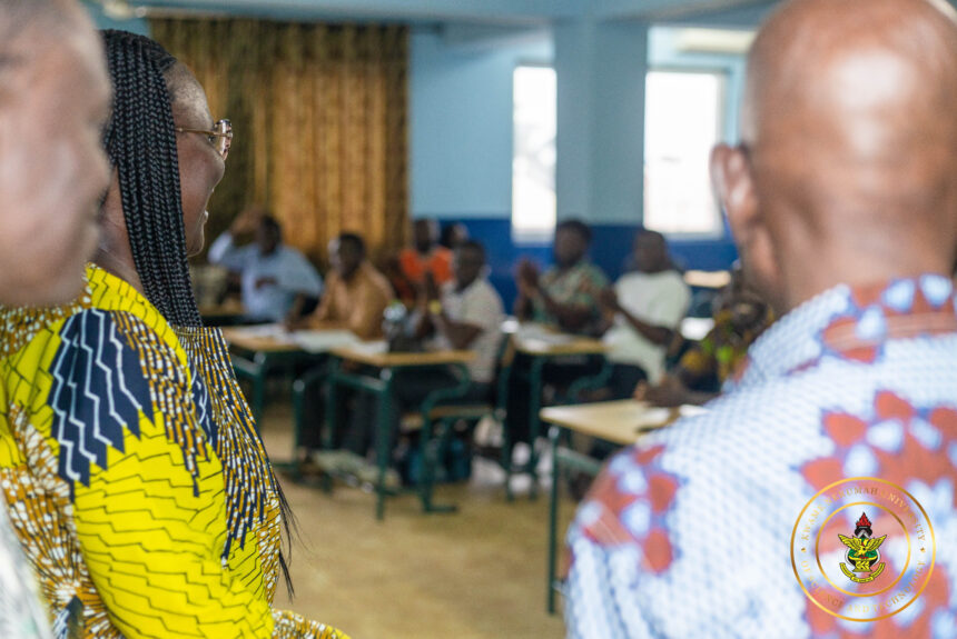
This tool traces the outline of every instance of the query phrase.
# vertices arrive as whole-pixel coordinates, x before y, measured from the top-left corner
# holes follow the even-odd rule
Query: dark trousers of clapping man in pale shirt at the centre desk
[[[458,376],[448,368],[407,368],[395,371],[392,379],[393,391],[393,426],[391,437],[398,433],[402,416],[420,409],[422,402],[436,390],[458,386]],[[487,401],[491,385],[473,382],[468,392],[453,400],[445,400],[442,406],[455,406]],[[349,423],[348,432],[343,440],[343,448],[356,455],[366,455],[375,443],[376,419],[378,402],[369,396],[357,398],[356,408]]]

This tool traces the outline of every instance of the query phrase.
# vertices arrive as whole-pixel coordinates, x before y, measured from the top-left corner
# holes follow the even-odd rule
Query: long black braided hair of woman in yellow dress
[[[105,144],[119,172],[129,244],[146,298],[170,323],[203,326],[186,256],[172,99],[176,58],[149,38],[103,31],[114,109]]]

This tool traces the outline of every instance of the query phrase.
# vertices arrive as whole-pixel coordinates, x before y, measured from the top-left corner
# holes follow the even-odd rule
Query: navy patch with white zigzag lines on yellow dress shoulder
[[[110,313],[87,310],[60,333],[50,375],[51,437],[60,445],[59,476],[90,485],[90,463],[107,467],[109,447],[124,451],[124,429],[139,437],[139,412],[152,419],[149,383],[137,353],[117,335]]]

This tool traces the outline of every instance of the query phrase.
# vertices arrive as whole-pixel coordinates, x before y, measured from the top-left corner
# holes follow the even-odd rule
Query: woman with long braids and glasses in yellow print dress
[[[284,500],[187,256],[231,141],[156,42],[105,32],[114,167],[72,304],[0,309],[0,473],[63,637],[312,637],[272,609]]]

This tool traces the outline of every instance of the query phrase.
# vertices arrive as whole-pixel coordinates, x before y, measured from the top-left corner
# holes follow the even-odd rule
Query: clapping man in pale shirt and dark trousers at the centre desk
[[[485,249],[478,242],[467,241],[454,253],[453,281],[438,287],[430,277],[420,293],[416,311],[411,321],[428,350],[474,350],[476,358],[467,365],[472,387],[468,393],[446,403],[472,403],[489,399],[504,318],[502,298],[483,276]],[[401,369],[393,378],[396,420],[420,408],[427,396],[460,383],[455,369]],[[361,402],[355,419],[345,437],[345,452],[323,453],[318,463],[328,469],[365,470],[375,475],[364,458],[374,443],[376,408],[374,402]],[[398,431],[396,421],[393,433]],[[389,473],[387,481],[395,483],[397,476]]]

